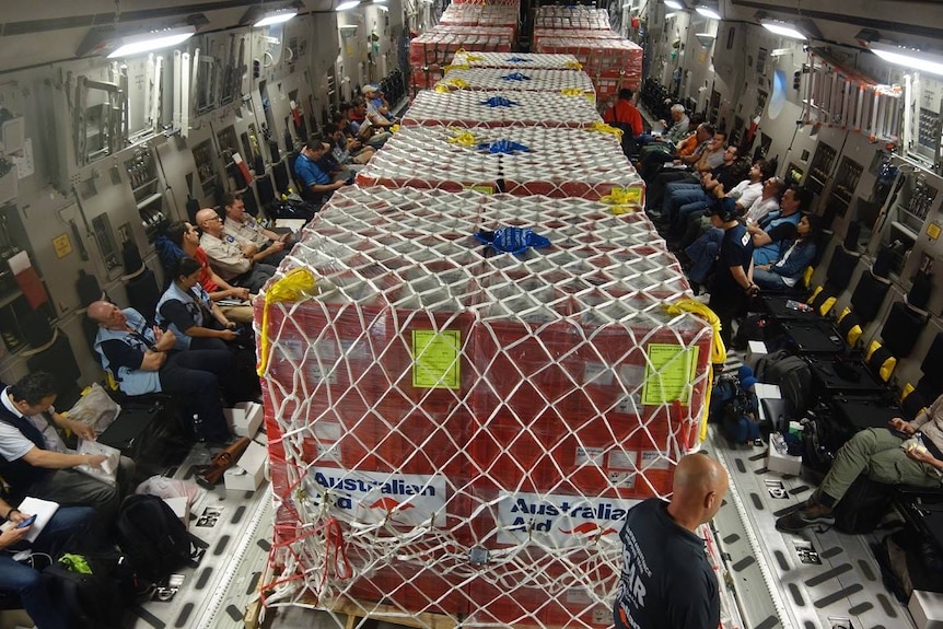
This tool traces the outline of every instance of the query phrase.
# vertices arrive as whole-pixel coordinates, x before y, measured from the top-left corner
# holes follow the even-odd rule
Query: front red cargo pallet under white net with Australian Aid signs
[[[620,521],[668,493],[697,443],[711,350],[702,319],[667,314],[688,284],[624,210],[335,194],[267,292],[305,275],[292,268],[314,288],[257,318],[267,605],[430,628],[612,625]],[[475,236],[511,225],[550,246],[501,254]]]

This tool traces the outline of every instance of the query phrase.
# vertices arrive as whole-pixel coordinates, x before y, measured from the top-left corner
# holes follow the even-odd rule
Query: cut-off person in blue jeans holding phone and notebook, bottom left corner
[[[28,548],[34,554],[59,557],[73,549],[75,541],[88,541],[95,510],[91,506],[60,506],[32,544],[24,539],[32,525],[23,528],[15,526],[32,514],[21,513],[2,499],[0,514],[4,514],[3,520],[14,524],[0,534],[0,592],[18,595],[26,614],[39,629],[72,629],[75,619],[68,605],[53,601],[48,590],[50,581],[30,564],[14,561],[11,551]]]

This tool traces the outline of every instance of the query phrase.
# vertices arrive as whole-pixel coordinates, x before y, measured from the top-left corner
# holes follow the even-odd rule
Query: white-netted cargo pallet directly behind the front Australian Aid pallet
[[[626,194],[644,203],[644,183],[616,136],[592,128],[403,127],[357,175],[362,186],[482,186],[514,195],[599,199]]]

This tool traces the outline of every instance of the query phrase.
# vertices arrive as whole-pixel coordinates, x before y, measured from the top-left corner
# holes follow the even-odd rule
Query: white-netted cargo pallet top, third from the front
[[[403,116],[406,126],[589,127],[602,121],[587,98],[552,92],[426,90]]]

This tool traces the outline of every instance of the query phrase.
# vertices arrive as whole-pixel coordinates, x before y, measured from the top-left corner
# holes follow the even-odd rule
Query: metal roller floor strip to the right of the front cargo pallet
[[[705,450],[726,466],[731,490],[714,519],[733,587],[750,629],[898,629],[916,627],[888,593],[869,547],[886,531],[846,535],[811,527],[780,533],[776,519],[815,487],[766,468],[766,447],[733,447],[715,431]]]

